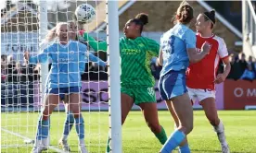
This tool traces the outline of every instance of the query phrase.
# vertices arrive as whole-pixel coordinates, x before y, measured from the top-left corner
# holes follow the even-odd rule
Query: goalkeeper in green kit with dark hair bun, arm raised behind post
[[[159,56],[160,45],[153,40],[141,36],[144,25],[148,23],[146,14],[138,14],[124,26],[125,37],[120,39],[121,54],[121,102],[122,124],[133,105],[140,106],[150,130],[163,145],[167,136],[158,118],[155,79],[151,75],[150,60]],[[97,42],[86,32],[80,32],[83,40],[96,51],[107,51],[107,42]],[[81,35],[80,35],[81,36]],[[107,152],[110,151],[109,140]]]

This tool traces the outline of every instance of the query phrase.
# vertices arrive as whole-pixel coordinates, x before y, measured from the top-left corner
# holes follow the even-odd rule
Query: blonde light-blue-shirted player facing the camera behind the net
[[[48,58],[52,61],[47,82],[45,107],[40,116],[36,142],[32,149],[33,153],[42,152],[47,149],[47,137],[49,134],[49,115],[58,105],[59,98],[63,99],[65,94],[70,95],[70,111],[74,113],[76,131],[79,136],[79,147],[81,152],[87,152],[84,145],[84,124],[83,116],[80,113],[80,89],[81,74],[84,71],[85,63],[88,60],[97,62],[99,65],[106,64],[86,51],[86,45],[78,41],[69,41],[69,26],[67,23],[58,23],[56,33],[57,41],[54,41],[42,53],[30,56],[25,53],[25,58],[30,63],[45,63]]]

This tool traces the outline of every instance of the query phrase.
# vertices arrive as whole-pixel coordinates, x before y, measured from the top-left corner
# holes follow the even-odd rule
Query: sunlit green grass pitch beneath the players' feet
[[[220,145],[217,136],[213,133],[204,113],[196,111],[195,127],[188,136],[192,153],[217,153]],[[38,113],[1,113],[1,127],[9,131],[33,138],[36,131]],[[160,124],[168,135],[173,131],[173,119],[169,112],[160,112]],[[256,152],[256,112],[255,111],[224,111],[219,112],[225,125],[225,134],[232,153]],[[85,121],[85,139],[90,153],[104,153],[108,136],[108,112],[83,112]],[[62,124],[65,120],[64,112],[54,112],[51,117],[51,145],[58,147],[58,139],[62,133]],[[73,128],[69,143],[72,152],[77,152],[77,136]],[[32,145],[25,145],[22,138],[6,134],[2,131],[1,152],[26,153]],[[7,147],[6,147],[7,146]],[[12,147],[11,147],[12,146]],[[19,146],[19,147],[17,147]],[[157,153],[160,143],[150,132],[141,112],[130,112],[122,128],[122,149],[124,153]],[[48,152],[54,152],[48,150]]]

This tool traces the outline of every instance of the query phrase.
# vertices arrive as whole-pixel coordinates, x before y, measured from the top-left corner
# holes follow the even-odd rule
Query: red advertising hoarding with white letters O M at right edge
[[[226,80],[224,82],[224,110],[244,110],[256,106],[256,80]]]

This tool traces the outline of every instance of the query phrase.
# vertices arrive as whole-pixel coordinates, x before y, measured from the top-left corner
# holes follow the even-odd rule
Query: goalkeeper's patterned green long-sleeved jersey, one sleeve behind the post
[[[107,51],[107,42],[97,42],[87,33],[83,33],[83,41],[96,51]],[[137,37],[134,40],[122,37],[120,39],[121,54],[121,85],[122,87],[154,87],[155,79],[151,74],[150,61],[158,56],[160,45],[146,37]]]

